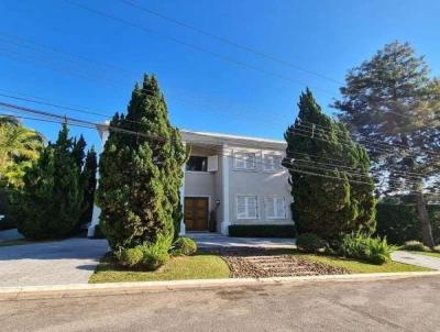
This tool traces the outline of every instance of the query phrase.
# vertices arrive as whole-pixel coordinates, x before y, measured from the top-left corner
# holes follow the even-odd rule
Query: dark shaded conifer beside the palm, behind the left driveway
[[[26,170],[23,189],[14,196],[14,220],[28,239],[59,239],[72,234],[82,210],[78,166],[64,124],[55,144],[43,148]]]

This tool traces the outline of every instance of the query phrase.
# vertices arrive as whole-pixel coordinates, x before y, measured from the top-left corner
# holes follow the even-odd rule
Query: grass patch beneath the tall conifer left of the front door
[[[89,283],[161,281],[184,279],[229,278],[228,264],[217,255],[173,257],[155,272],[127,270],[119,267],[114,258],[103,257]]]

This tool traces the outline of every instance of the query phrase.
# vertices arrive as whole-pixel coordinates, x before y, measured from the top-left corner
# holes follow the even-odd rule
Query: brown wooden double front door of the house
[[[208,231],[209,203],[206,197],[185,197],[187,231]]]

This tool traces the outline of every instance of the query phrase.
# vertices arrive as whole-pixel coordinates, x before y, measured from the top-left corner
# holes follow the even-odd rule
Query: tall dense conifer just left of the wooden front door
[[[100,224],[113,250],[155,243],[170,245],[179,215],[186,151],[156,78],[135,86],[127,115],[116,114],[99,161]]]

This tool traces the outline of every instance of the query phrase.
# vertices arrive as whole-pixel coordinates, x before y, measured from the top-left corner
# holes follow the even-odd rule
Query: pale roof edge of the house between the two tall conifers
[[[240,145],[246,147],[271,147],[271,148],[286,148],[287,143],[285,141],[267,140],[260,137],[250,137],[242,135],[230,135],[222,133],[211,133],[211,132],[197,132],[189,130],[180,130],[182,137],[184,142],[187,143],[205,143],[212,145]]]

